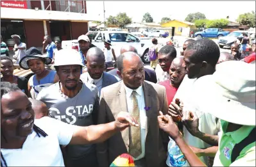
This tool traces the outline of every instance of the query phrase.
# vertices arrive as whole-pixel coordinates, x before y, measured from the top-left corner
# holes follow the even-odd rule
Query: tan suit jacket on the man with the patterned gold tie
[[[144,91],[145,106],[148,126],[146,127],[145,159],[148,167],[166,166],[167,145],[169,137],[159,129],[158,112],[167,114],[166,88],[158,84],[144,81],[142,85]],[[98,124],[112,122],[120,111],[128,112],[126,102],[126,92],[123,81],[112,84],[108,88],[101,90],[100,109]],[[118,132],[110,139],[97,145],[97,155],[99,166],[110,166],[114,159],[128,152],[129,128]]]

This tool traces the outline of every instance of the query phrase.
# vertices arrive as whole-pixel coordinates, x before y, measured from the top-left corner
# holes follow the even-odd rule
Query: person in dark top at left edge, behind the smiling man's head
[[[28,79],[13,76],[13,70],[12,59],[8,56],[1,56],[1,74],[3,75],[1,82],[15,83],[26,95],[30,95],[30,93],[28,93]]]

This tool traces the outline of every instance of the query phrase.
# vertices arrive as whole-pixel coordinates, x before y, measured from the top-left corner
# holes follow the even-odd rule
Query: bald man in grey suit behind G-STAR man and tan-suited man
[[[101,89],[111,84],[117,83],[120,79],[105,70],[105,56],[104,52],[98,47],[92,47],[87,52],[87,72],[81,74],[81,81],[83,83],[95,84],[98,88],[99,95]]]

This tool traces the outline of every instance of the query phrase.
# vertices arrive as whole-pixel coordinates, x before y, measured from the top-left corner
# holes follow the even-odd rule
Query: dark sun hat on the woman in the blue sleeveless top
[[[42,55],[42,52],[39,51],[36,47],[30,47],[30,49],[26,51],[26,56],[24,56],[21,59],[21,61],[19,61],[19,66],[24,70],[28,70],[30,69],[30,67],[28,66],[28,61],[32,59],[38,59],[38,58],[44,60],[45,65],[51,64],[51,61],[52,61],[51,58],[48,58],[46,55]]]

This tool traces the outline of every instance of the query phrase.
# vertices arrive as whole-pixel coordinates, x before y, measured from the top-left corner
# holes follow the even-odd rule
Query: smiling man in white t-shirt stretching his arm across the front
[[[86,127],[49,117],[35,120],[17,84],[1,83],[1,166],[64,166],[60,145],[100,143],[129,125],[139,126],[127,112],[114,122]]]

